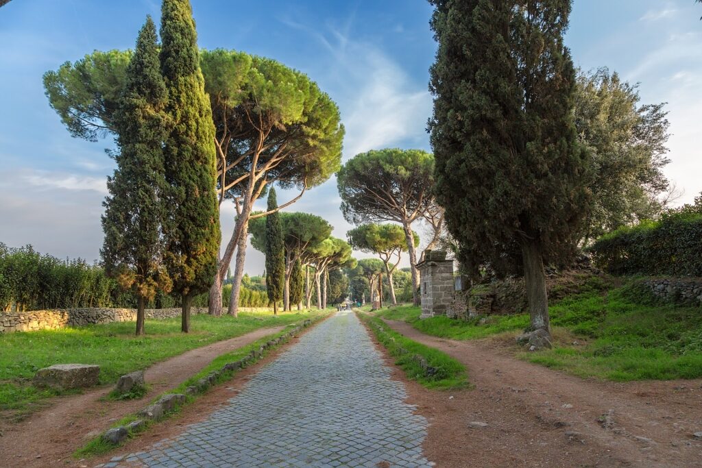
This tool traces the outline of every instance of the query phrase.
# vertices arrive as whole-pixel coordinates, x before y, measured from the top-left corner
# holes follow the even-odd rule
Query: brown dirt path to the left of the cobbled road
[[[110,427],[115,420],[143,408],[154,396],[176,387],[220,354],[249,345],[283,328],[260,328],[154,364],[146,370],[145,380],[151,387],[142,399],[99,401],[112,390],[112,387],[105,387],[81,395],[57,397],[51,407],[17,424],[1,421],[0,467],[67,466],[76,448]]]

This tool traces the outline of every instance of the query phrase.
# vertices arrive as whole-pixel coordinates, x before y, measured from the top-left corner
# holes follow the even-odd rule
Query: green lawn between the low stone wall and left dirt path
[[[105,323],[80,328],[0,334],[0,410],[24,415],[51,396],[76,391],[37,389],[31,385],[40,368],[58,363],[100,366],[100,385],[120,375],[212,342],[244,335],[262,327],[286,326],[320,312],[242,312],[231,316],[191,317],[191,333],[180,333],[180,318],[147,320],[144,337],[134,336],[133,322]]]

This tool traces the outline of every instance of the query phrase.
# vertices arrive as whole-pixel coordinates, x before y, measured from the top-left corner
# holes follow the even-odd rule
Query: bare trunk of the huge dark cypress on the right
[[[527,287],[529,331],[546,330],[551,333],[548,319],[548,295],[546,293],[546,275],[543,270],[543,255],[538,241],[522,241],[522,260],[524,262],[524,284]]]

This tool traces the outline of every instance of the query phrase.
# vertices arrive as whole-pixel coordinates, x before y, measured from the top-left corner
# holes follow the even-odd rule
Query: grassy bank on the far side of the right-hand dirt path
[[[635,282],[605,293],[570,295],[549,307],[554,349],[515,352],[521,359],[580,377],[625,382],[702,377],[702,308],[656,302]],[[419,319],[418,307],[379,313],[428,335],[472,340],[521,332],[526,314],[470,321]],[[574,345],[574,342],[580,342]]]

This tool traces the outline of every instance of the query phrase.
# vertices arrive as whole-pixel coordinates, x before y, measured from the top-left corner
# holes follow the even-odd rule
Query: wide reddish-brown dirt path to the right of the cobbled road
[[[431,423],[425,455],[438,467],[702,467],[702,441],[692,437],[702,431],[702,380],[583,380],[487,341],[387,323],[461,361],[475,385],[428,392],[408,382],[409,402]]]

